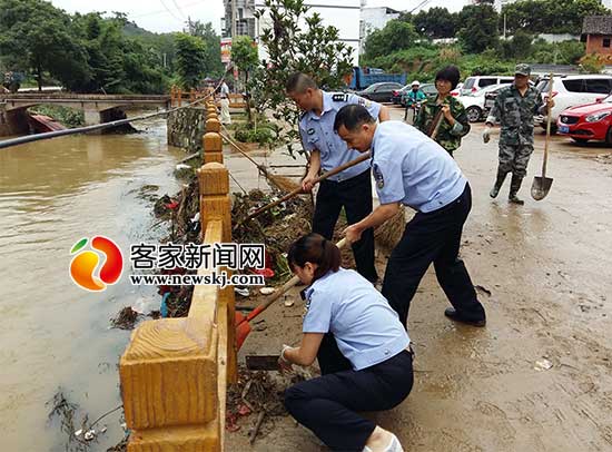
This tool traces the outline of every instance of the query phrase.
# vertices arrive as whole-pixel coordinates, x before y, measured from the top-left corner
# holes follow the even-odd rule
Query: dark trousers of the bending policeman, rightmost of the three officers
[[[458,258],[463,224],[471,208],[472,191],[466,184],[454,202],[427,214],[418,212],[406,225],[387,262],[382,291],[403,325],[406,325],[418,283],[432,263],[437,282],[453,307],[464,318],[485,318],[470,274]]]

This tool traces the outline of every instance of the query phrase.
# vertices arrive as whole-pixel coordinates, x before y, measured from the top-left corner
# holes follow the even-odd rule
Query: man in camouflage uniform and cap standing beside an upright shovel
[[[509,202],[519,205],[524,202],[516,194],[527,174],[527,164],[533,153],[533,117],[546,108],[540,91],[529,85],[530,75],[531,68],[527,65],[516,65],[514,82],[502,89],[495,98],[483,132],[484,143],[488,143],[491,127],[500,121],[500,165],[490,196],[495,198],[500,194],[506,175],[512,173]],[[549,99],[549,105],[552,108],[554,101]]]

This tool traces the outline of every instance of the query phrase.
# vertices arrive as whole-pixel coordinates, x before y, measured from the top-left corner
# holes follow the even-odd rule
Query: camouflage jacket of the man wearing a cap
[[[500,121],[500,145],[533,145],[533,117],[544,107],[537,89],[529,87],[521,96],[511,85],[500,90],[486,122]]]

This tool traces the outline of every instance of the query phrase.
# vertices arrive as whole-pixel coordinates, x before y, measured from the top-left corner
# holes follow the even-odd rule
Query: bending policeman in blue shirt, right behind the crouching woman
[[[348,146],[372,148],[372,167],[381,205],[346,228],[349,242],[363,230],[393,217],[399,203],[416,210],[393,249],[383,295],[406,324],[411,301],[430,264],[453,305],[445,315],[474,326],[485,325],[485,312],[463,261],[458,258],[463,225],[472,194],[457,164],[438,144],[402,121],[381,125],[361,106],[338,111],[334,128]]]

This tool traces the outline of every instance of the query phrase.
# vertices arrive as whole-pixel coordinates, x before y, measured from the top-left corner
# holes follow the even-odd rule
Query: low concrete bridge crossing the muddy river
[[[28,132],[27,109],[37,105],[57,105],[85,112],[87,126],[116,119],[112,114],[125,107],[170,107],[170,96],[75,95],[66,92],[0,95],[0,136]]]

